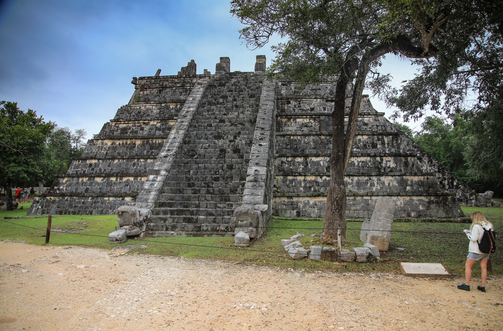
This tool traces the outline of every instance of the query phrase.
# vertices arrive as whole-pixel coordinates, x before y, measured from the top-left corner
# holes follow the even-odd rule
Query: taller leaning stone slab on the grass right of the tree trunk
[[[388,251],[394,215],[395,200],[380,196],[370,219],[367,243],[377,246],[381,252]]]

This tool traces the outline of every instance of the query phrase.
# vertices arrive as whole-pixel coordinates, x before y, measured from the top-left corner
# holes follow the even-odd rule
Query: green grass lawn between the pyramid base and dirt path
[[[4,216],[24,216],[30,203],[22,204],[23,210],[6,211],[0,210],[0,219]],[[469,215],[474,211],[482,211],[494,228],[503,226],[503,208],[487,207],[463,207],[465,214]],[[82,219],[84,218],[84,219]],[[32,219],[6,219],[9,222],[44,229],[47,226],[47,218]],[[73,223],[73,224],[70,224]],[[82,224],[85,223],[85,224]],[[116,215],[58,215],[52,218],[52,229],[77,229],[88,228],[79,231],[78,234],[105,236],[107,237],[117,226]],[[321,228],[323,223],[319,220],[293,220],[288,218],[272,219],[264,236],[255,241],[249,248],[237,250],[234,248],[233,237],[216,238],[145,238],[148,242],[127,241],[127,244],[147,245],[147,248],[133,250],[130,253],[141,252],[153,255],[185,256],[201,259],[223,259],[233,260],[241,263],[253,263],[259,265],[273,265],[286,268],[305,270],[332,270],[333,263],[328,261],[308,261],[307,259],[292,260],[284,252],[280,240],[288,239],[298,232],[303,233],[300,241],[305,248],[314,245],[316,238],[311,238],[311,234],[319,234],[320,230],[305,230],[302,228]],[[375,263],[347,263],[348,271],[371,271],[371,272],[394,272],[399,273],[398,261],[401,262],[441,262],[453,275],[464,274],[464,263],[468,250],[468,239],[462,232],[469,228],[469,224],[455,223],[395,223],[393,230],[412,231],[413,233],[393,232],[391,235],[390,249],[383,254],[382,262]],[[296,228],[296,229],[274,229]],[[343,248],[362,246],[360,237],[360,222],[348,222],[347,243]],[[498,231],[501,233],[503,229]],[[453,233],[453,234],[444,234]],[[81,247],[99,248],[110,250],[117,246],[110,244],[107,238],[82,236],[78,234],[51,233],[50,244],[54,246],[78,245]],[[45,232],[28,229],[13,224],[0,222],[0,238],[9,240],[22,240],[26,243],[44,245]],[[312,242],[311,242],[312,241]],[[179,245],[185,244],[185,245]],[[498,236],[498,250],[491,257],[492,274],[503,273],[503,240]],[[202,245],[210,247],[196,247],[189,245]],[[214,248],[218,247],[218,248]],[[405,248],[399,251],[396,247]],[[224,249],[221,249],[224,248]],[[272,251],[272,252],[256,252]],[[454,256],[453,256],[454,255]],[[474,275],[480,274],[475,267]]]

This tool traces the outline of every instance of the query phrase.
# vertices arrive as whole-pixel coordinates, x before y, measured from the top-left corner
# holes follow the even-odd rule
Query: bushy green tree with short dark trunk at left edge
[[[0,184],[7,195],[7,210],[13,210],[13,185],[30,184],[44,176],[47,136],[54,128],[37,113],[25,113],[17,102],[0,101]]]

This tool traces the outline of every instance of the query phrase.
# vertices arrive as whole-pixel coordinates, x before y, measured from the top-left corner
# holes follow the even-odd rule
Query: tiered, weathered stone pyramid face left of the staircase
[[[133,78],[130,102],[88,141],[67,173],[35,199],[29,213],[112,214],[117,206],[134,201],[202,76]]]

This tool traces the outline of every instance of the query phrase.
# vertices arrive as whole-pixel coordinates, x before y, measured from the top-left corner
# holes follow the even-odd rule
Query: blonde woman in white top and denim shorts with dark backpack
[[[466,236],[470,240],[468,245],[468,256],[465,263],[465,283],[458,285],[460,290],[470,290],[471,268],[475,262],[479,261],[481,275],[480,285],[477,290],[485,292],[485,281],[487,279],[487,261],[489,260],[490,253],[482,253],[479,250],[479,243],[482,241],[484,230],[492,230],[492,224],[488,222],[484,214],[480,211],[475,211],[471,214],[472,225],[470,230],[465,230]],[[492,231],[490,231],[492,232]]]

